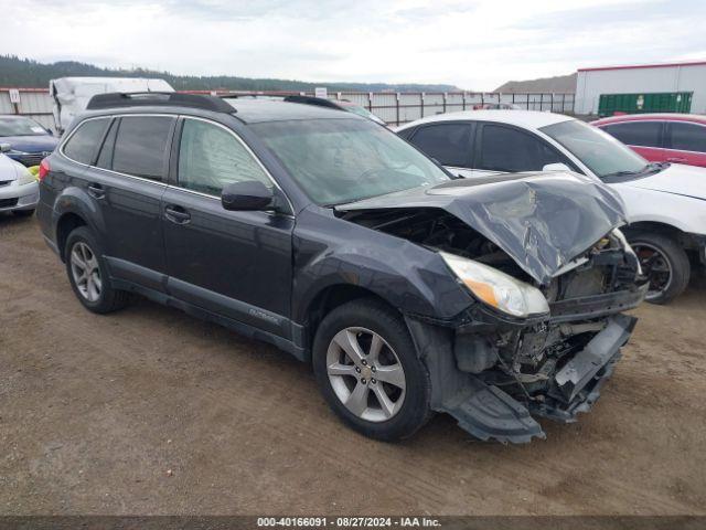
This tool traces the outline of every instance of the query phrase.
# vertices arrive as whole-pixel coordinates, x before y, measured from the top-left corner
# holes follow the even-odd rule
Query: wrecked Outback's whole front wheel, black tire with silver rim
[[[313,343],[313,370],[329,406],[365,436],[411,436],[430,417],[431,384],[402,316],[373,299],[333,309]]]

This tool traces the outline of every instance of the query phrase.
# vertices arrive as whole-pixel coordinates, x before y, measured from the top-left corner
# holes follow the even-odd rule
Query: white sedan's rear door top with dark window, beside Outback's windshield
[[[408,141],[453,174],[470,177],[474,130],[475,124],[468,121],[421,125]]]

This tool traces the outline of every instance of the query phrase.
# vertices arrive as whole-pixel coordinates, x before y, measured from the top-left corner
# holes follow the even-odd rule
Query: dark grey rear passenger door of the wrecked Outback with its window
[[[143,115],[89,119],[64,147],[65,156],[81,158],[82,146],[97,139],[99,149],[79,180],[99,212],[96,230],[110,274],[154,289],[162,288],[165,272],[160,204],[175,121]]]

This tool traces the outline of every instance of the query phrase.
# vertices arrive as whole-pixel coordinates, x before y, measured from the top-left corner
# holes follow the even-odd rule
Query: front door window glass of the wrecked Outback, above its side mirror
[[[220,195],[232,182],[272,181],[247,149],[231,132],[207,121],[184,120],[179,149],[179,184]]]

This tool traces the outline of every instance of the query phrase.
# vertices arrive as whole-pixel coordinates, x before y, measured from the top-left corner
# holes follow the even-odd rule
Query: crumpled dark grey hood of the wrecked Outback
[[[438,208],[505,251],[541,284],[627,223],[619,195],[571,172],[459,179],[336,206],[336,211]]]

